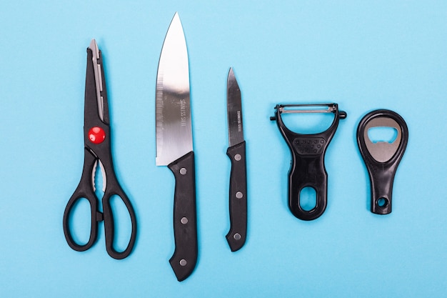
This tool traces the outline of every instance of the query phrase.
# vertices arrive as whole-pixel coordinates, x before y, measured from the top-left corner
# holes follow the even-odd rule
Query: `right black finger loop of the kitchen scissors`
[[[106,233],[106,250],[110,257],[114,259],[124,259],[131,254],[132,249],[134,249],[135,239],[136,239],[136,217],[134,212],[134,207],[132,207],[129,198],[123,192],[119,184],[116,182],[113,187],[111,187],[110,192],[104,194],[102,198],[102,207],[103,207],[103,216],[104,216],[104,232]],[[122,252],[118,252],[114,248],[114,239],[115,239],[115,225],[114,225],[114,214],[111,209],[110,200],[114,196],[118,196],[121,201],[126,205],[127,211],[129,212],[129,216],[131,218],[131,237],[129,239],[129,243],[127,244],[126,249]]]

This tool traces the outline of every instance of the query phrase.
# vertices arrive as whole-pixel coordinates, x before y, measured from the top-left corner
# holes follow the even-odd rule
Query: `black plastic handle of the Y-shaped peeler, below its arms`
[[[326,209],[328,174],[322,154],[325,147],[326,140],[323,138],[298,137],[291,142],[288,207],[298,219],[317,219]],[[311,187],[316,192],[316,204],[311,210],[301,207],[301,192],[305,187]]]

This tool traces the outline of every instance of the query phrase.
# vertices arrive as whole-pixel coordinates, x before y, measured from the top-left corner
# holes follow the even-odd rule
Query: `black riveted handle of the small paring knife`
[[[229,147],[226,155],[231,159],[230,174],[230,231],[226,240],[231,252],[241,249],[247,234],[247,170],[245,141]]]

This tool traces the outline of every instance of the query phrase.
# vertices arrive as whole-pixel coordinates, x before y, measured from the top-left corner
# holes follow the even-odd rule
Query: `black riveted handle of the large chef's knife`
[[[191,151],[168,165],[176,179],[174,191],[174,241],[169,259],[179,282],[189,277],[197,262],[196,174]]]

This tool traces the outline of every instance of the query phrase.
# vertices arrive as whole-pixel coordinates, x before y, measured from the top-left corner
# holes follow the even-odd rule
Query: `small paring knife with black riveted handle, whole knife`
[[[228,149],[230,174],[230,231],[226,240],[231,252],[241,249],[247,234],[247,174],[246,150],[243,140],[241,90],[233,69],[228,73],[226,108],[228,113]]]

